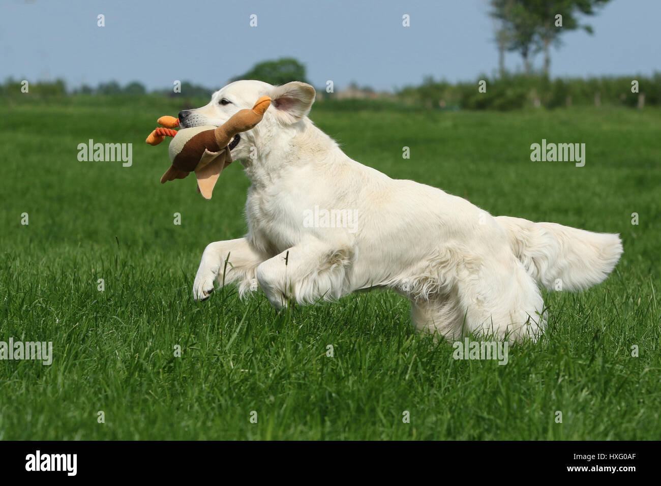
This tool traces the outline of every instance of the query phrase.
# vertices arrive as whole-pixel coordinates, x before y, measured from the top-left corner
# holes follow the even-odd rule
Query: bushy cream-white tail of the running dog
[[[603,282],[623,251],[619,235],[611,233],[509,216],[496,220],[525,271],[549,290],[580,290]]]

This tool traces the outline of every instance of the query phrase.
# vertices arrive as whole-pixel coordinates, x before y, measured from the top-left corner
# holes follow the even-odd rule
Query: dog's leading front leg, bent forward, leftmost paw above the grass
[[[239,294],[256,290],[257,266],[268,257],[255,251],[245,238],[209,243],[202,253],[193,284],[193,298],[207,300],[214,292],[214,281],[225,285],[239,280]]]

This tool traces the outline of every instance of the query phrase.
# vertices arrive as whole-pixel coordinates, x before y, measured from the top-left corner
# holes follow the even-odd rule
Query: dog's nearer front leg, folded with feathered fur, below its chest
[[[340,298],[347,293],[351,263],[349,248],[308,241],[261,263],[256,277],[269,302],[282,309],[290,300],[311,304]]]

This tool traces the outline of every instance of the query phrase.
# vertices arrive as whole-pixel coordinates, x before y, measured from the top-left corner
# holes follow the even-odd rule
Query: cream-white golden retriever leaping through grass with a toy
[[[537,284],[587,288],[619,260],[619,235],[494,217],[350,159],[307,118],[315,90],[305,83],[237,81],[180,122],[219,126],[263,95],[273,100],[264,119],[230,145],[252,182],[249,231],[206,247],[196,300],[216,280],[237,282],[241,296],[261,288],[277,309],[387,287],[410,300],[420,331],[520,341],[546,325]]]

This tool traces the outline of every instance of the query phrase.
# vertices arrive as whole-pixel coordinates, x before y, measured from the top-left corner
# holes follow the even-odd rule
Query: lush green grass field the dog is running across
[[[661,111],[313,107],[350,157],[391,177],[494,215],[621,234],[613,274],[587,292],[545,293],[545,337],[498,366],[416,335],[408,301],[390,292],[280,315],[232,287],[193,302],[204,247],[246,231],[249,183],[234,163],[209,202],[193,179],[159,184],[167,147],[143,140],[183,107],[0,103],[0,341],[54,350],[50,366],[0,360],[1,439],[661,437]],[[586,143],[585,167],[531,162],[543,138]],[[78,161],[89,139],[133,143],[132,167]]]

